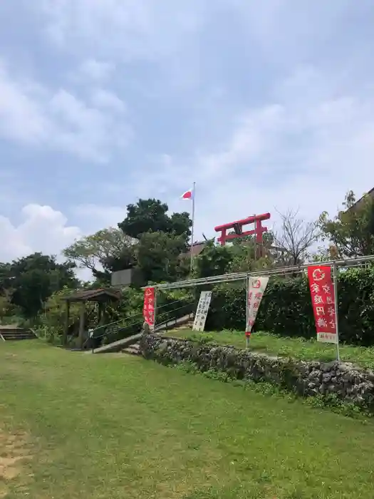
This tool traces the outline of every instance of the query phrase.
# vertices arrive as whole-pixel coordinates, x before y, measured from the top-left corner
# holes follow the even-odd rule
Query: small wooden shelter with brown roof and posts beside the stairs
[[[82,289],[81,291],[70,294],[63,299],[66,301],[63,344],[65,345],[68,339],[70,304],[80,302],[78,342],[80,348],[82,348],[84,342],[85,309],[87,302],[95,302],[98,304],[98,326],[101,326],[105,324],[105,305],[110,302],[118,302],[120,300],[120,291],[113,288]]]

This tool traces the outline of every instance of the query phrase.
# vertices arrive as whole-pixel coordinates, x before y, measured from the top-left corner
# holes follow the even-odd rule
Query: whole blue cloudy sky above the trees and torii
[[[371,0],[0,3],[0,260],[197,182],[196,238],[374,187]]]

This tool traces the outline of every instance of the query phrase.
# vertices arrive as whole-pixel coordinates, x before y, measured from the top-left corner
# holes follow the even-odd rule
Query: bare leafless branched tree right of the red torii
[[[274,246],[281,254],[279,259],[286,265],[302,264],[308,249],[318,239],[318,223],[305,222],[298,217],[298,210],[287,210],[279,213],[279,217],[280,228],[274,232]]]

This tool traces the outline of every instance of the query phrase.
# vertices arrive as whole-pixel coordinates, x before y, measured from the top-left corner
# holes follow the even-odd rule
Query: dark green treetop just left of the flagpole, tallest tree
[[[160,200],[139,200],[128,205],[128,215],[118,224],[120,230],[135,239],[145,232],[164,232],[184,237],[186,242],[191,235],[192,222],[187,212],[167,214],[169,207]]]

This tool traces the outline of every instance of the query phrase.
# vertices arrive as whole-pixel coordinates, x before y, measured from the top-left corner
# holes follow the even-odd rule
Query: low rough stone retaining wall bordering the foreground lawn
[[[298,361],[153,334],[142,335],[140,351],[145,359],[161,364],[189,361],[200,371],[213,369],[234,379],[269,381],[301,396],[335,395],[373,412],[374,372],[353,364]]]

